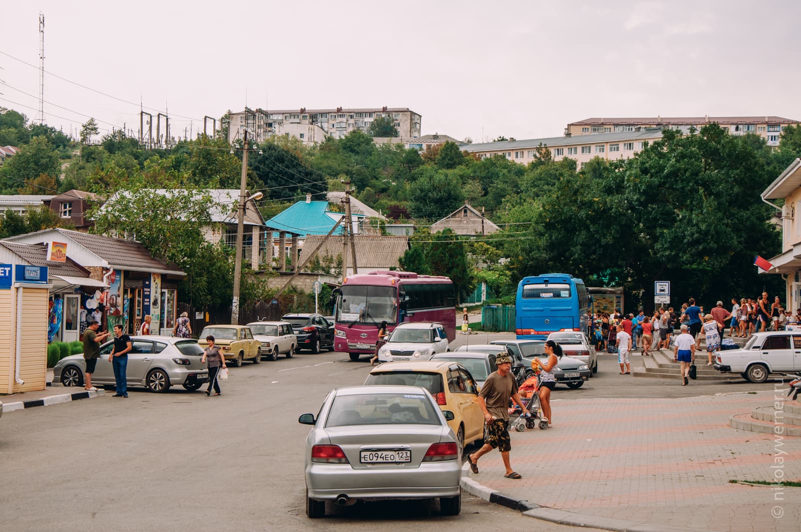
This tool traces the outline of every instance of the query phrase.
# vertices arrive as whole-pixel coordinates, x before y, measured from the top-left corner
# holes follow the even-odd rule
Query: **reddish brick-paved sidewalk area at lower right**
[[[729,425],[731,415],[784,395],[782,387],[682,399],[553,401],[553,428],[511,433],[512,465],[522,480],[503,478],[496,451],[481,458],[479,474],[469,479],[510,498],[573,512],[586,526],[795,532],[801,488],[729,482],[801,481],[801,437]],[[629,526],[612,526],[610,518]]]

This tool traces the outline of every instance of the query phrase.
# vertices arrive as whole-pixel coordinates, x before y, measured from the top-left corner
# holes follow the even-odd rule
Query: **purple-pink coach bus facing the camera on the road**
[[[404,321],[439,321],[448,341],[456,338],[453,281],[445,276],[360,273],[346,277],[332,297],[336,298],[334,349],[350,353],[352,361],[375,352],[382,321],[388,332]]]

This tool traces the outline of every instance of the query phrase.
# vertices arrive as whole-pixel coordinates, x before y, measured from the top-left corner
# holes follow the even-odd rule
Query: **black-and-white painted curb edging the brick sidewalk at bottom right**
[[[686,532],[686,529],[683,528],[651,525],[636,521],[626,521],[625,519],[576,514],[566,510],[546,508],[545,506],[539,506],[533,502],[509,497],[509,495],[501,494],[500,491],[491,490],[487,486],[474,481],[472,478],[469,478],[469,465],[466,462],[461,466],[461,473],[461,482],[459,485],[462,490],[476,497],[480,497],[487,502],[517,510],[529,518],[542,519],[543,521],[554,522],[558,525],[583,526],[585,528],[615,530],[617,532]]]

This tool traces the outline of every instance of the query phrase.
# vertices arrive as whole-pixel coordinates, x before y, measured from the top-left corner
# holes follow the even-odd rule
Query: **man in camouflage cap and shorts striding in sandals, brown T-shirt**
[[[515,480],[522,478],[520,474],[512,469],[509,464],[509,451],[512,449],[512,442],[509,438],[509,397],[517,405],[520,405],[521,416],[529,413],[525,408],[520,396],[517,394],[517,382],[512,374],[512,359],[509,353],[500,353],[495,359],[497,371],[489,374],[481,391],[478,393],[476,401],[484,411],[484,445],[475,453],[467,456],[470,470],[474,474],[478,473],[478,459],[497,448],[501,451],[503,465],[506,468],[505,478]]]

